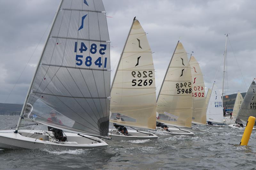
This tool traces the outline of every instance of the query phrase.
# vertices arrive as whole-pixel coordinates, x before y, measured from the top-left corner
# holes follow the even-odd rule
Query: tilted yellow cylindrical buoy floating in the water
[[[250,116],[247,123],[246,123],[246,127],[244,129],[244,135],[241,139],[240,145],[247,145],[252,133],[252,128],[254,126],[255,123],[255,117]]]

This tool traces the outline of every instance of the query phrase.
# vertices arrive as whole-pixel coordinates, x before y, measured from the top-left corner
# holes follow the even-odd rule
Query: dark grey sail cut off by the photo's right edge
[[[250,88],[244,96],[244,101],[238,111],[236,122],[246,124],[249,116],[256,117],[256,83],[252,81]],[[256,122],[255,124],[256,125]]]

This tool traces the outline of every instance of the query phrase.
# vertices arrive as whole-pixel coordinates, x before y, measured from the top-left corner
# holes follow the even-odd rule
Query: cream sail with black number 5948
[[[160,122],[191,127],[192,83],[187,52],[178,42],[157,99]]]

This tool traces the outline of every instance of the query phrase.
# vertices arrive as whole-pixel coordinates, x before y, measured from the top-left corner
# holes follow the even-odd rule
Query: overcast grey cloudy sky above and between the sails
[[[59,0],[0,0],[1,103],[24,102],[59,3]],[[157,94],[178,40],[188,53],[194,51],[193,55],[200,63],[207,87],[212,86],[223,58],[225,33],[230,33],[231,43],[228,40],[228,93],[236,93],[238,90],[246,92],[256,77],[255,0],[105,0],[103,3],[109,16],[107,21],[112,46],[112,75],[116,70],[132,19],[136,16],[148,33],[151,50],[155,52],[153,59]],[[222,70],[221,66],[216,79],[219,88]]]

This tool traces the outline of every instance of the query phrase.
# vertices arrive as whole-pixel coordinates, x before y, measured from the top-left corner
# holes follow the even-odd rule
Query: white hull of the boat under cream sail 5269
[[[139,132],[138,132],[139,131]],[[122,133],[120,133],[117,129],[109,129],[108,136],[111,137],[113,140],[145,140],[145,139],[157,139],[158,136],[156,136],[154,133],[151,132],[145,132],[140,130],[128,130],[129,136],[126,136]],[[143,132],[143,133],[141,133]]]

